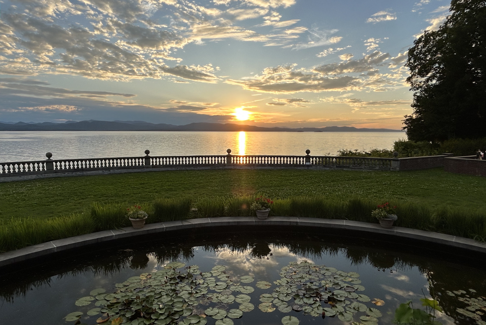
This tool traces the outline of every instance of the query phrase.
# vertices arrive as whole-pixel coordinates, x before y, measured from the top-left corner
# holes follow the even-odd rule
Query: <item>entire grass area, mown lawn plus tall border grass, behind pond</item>
[[[398,205],[396,225],[486,241],[486,178],[441,169],[206,170],[53,178],[0,183],[0,251],[130,226],[141,204],[148,223],[251,215],[257,195],[271,215],[377,222]]]

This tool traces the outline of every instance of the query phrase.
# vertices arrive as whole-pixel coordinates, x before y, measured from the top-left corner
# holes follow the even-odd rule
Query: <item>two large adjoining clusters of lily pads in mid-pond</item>
[[[273,312],[277,308],[283,313],[303,310],[304,314],[312,316],[337,315],[346,322],[364,312],[353,322],[355,325],[376,325],[382,315],[378,309],[362,303],[371,301],[370,297],[355,292],[364,290],[356,272],[346,273],[303,261],[291,262],[282,268],[280,275],[282,278],[274,282],[277,287],[273,292],[260,295],[258,308],[262,312]],[[106,293],[103,288],[94,289],[75,304],[85,307],[94,302],[95,308],[85,307],[90,308],[86,314],[99,316],[97,323],[110,320],[111,325],[205,325],[207,317],[216,319],[216,325],[232,325],[232,319],[255,309],[249,295],[255,291],[249,285],[254,281],[251,275],[230,277],[223,265],[201,272],[197,265],[185,267],[184,263],[171,262],[161,270],[117,283],[118,290],[114,293]],[[257,281],[255,286],[268,290],[272,284]],[[292,299],[293,303],[289,303]],[[74,311],[65,319],[79,322],[83,315],[83,311]],[[297,325],[299,319],[284,316],[282,323]]]

